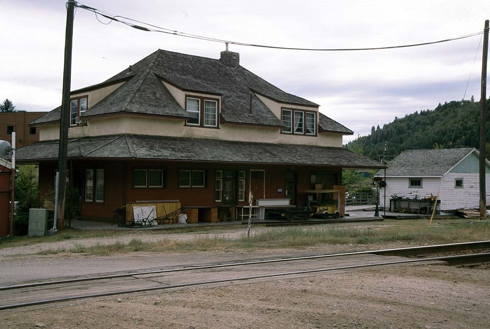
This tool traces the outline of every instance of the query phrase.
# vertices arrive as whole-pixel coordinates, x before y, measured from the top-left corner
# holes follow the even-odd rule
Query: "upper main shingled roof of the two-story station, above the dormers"
[[[220,59],[159,49],[98,85],[74,91],[82,93],[96,87],[126,81],[81,117],[128,112],[189,118],[189,114],[176,102],[161,80],[185,91],[220,95],[221,117],[233,123],[283,126],[282,121],[274,116],[255,93],[278,102],[315,108],[319,106],[282,91],[240,65],[230,67]],[[47,123],[59,118],[60,107],[30,123]],[[319,117],[319,124],[323,131],[352,134],[351,130],[323,115]]]

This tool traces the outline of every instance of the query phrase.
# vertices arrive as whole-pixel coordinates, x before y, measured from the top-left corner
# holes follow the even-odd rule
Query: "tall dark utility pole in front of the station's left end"
[[[65,185],[66,167],[68,155],[68,125],[70,123],[70,88],[72,79],[72,44],[73,44],[73,11],[75,1],[68,0],[66,3],[66,31],[65,31],[65,64],[63,68],[63,91],[61,98],[61,118],[60,118],[60,142],[58,151],[58,208],[55,218],[57,227],[63,228],[65,225]]]

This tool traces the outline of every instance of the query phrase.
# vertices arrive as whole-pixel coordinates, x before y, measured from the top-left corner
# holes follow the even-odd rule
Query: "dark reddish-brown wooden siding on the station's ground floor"
[[[42,193],[53,188],[53,174],[57,166],[55,162],[40,164],[40,188]],[[297,174],[297,205],[304,206],[307,202],[305,190],[310,189],[310,175],[312,173],[331,173],[336,175],[337,184],[340,184],[341,169],[321,166],[291,166],[291,165],[261,165],[261,164],[194,164],[167,161],[73,161],[69,164],[71,170],[71,185],[76,185],[79,178],[80,196],[82,199],[81,212],[83,219],[113,220],[113,210],[126,204],[126,202],[145,200],[180,200],[182,206],[212,206],[223,207],[222,202],[215,202],[214,185],[216,170],[245,171],[245,199],[248,199],[250,169],[265,170],[266,198],[285,197],[285,174],[294,171]],[[164,188],[134,188],[133,169],[163,169],[165,172]],[[85,202],[85,169],[104,169],[104,203]],[[206,171],[206,186],[204,188],[179,188],[178,171],[196,169]],[[238,179],[238,178],[237,178]],[[280,190],[280,192],[278,192]],[[238,185],[236,188],[238,200]],[[248,201],[236,202],[238,205],[247,205]]]

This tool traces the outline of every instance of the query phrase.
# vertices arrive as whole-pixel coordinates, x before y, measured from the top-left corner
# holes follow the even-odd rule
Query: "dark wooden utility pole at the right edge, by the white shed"
[[[485,21],[485,29],[483,35],[483,56],[482,56],[482,96],[480,99],[480,220],[485,220],[487,217],[487,188],[485,183],[486,176],[486,154],[485,141],[487,123],[487,58],[489,52],[489,20]]]

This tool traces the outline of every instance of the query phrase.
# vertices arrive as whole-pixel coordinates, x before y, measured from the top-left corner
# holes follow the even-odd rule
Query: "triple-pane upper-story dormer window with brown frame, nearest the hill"
[[[317,136],[317,114],[315,112],[282,109],[281,119],[284,124],[282,133]]]

